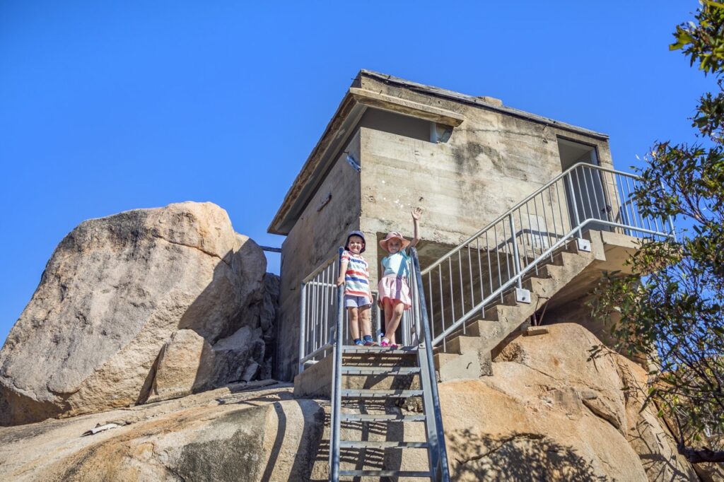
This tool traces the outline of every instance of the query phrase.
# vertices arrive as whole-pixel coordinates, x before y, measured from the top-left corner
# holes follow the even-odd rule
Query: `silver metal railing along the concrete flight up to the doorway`
[[[547,182],[486,227],[421,271],[433,345],[486,308],[522,289],[585,229],[633,237],[670,237],[671,219],[643,216],[633,191],[639,177],[580,163]]]

